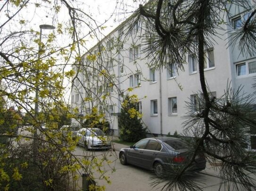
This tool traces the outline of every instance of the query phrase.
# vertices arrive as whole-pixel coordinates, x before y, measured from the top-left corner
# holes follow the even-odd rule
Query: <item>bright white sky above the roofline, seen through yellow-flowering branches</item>
[[[132,12],[139,7],[139,4],[142,3],[144,0],[70,0],[67,2],[74,3],[74,7],[78,7],[85,14],[90,16],[97,25],[101,25],[104,23],[104,30],[100,32],[102,35],[98,35],[98,38],[104,38],[109,32],[113,31],[120,23],[122,23],[126,18],[128,18]],[[0,0],[0,7],[6,2],[6,0]],[[52,2],[60,2],[60,1],[52,1]],[[35,6],[37,3],[40,3],[40,7]],[[75,5],[76,4],[76,5]],[[58,15],[52,14],[53,7],[50,6],[60,6],[60,12]],[[11,13],[12,10],[17,9],[10,8],[9,12]],[[7,19],[6,11],[0,11],[0,25]],[[57,27],[57,23],[67,22],[69,18],[68,11],[65,6],[61,4],[51,4],[44,3],[42,0],[30,0],[28,3],[27,8],[24,8],[22,12],[16,15],[12,22],[7,26],[5,26],[6,34],[10,31],[18,31],[18,30],[30,30],[33,29],[34,31],[40,31],[39,26],[41,24],[50,24]],[[84,19],[84,18],[83,18]],[[20,24],[20,21],[24,20],[25,25]],[[92,28],[95,28],[95,23],[90,20],[84,20],[86,23],[89,24]],[[54,33],[57,35],[57,30],[43,30],[42,31],[42,41],[46,40],[46,36],[49,33]],[[81,28],[81,35],[88,34],[89,27],[83,25]],[[4,35],[4,32],[1,31],[1,35]],[[83,35],[82,35],[83,36]],[[82,54],[89,50],[92,46],[97,43],[96,38],[91,38],[90,36],[85,38],[86,45],[82,50]],[[57,35],[56,43],[58,46],[65,46],[66,44],[72,42],[70,38]],[[69,66],[65,68],[65,70],[71,69],[71,65],[74,60],[69,62]],[[66,95],[65,98],[69,99],[70,94],[70,82],[65,81],[66,88]]]

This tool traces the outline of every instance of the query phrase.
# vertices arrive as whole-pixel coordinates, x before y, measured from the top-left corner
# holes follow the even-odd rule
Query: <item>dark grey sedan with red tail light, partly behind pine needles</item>
[[[173,165],[181,167],[189,157],[184,141],[170,137],[144,138],[128,148],[122,148],[119,153],[121,164],[153,169],[158,177]],[[198,172],[205,169],[204,154],[198,154],[195,160],[190,167],[191,171]]]

